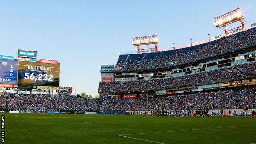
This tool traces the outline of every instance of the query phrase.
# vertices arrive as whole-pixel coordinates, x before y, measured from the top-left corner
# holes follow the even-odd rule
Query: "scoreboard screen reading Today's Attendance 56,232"
[[[59,87],[60,64],[19,61],[18,85]]]

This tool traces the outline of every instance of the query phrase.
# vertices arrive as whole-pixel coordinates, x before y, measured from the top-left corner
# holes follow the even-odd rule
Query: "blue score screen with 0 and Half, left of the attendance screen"
[[[18,61],[0,59],[0,84],[17,84]]]

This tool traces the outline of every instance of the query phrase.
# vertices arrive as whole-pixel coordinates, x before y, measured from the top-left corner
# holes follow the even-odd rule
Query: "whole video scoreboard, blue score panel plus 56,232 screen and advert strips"
[[[18,87],[37,86],[37,89],[59,89],[60,64],[55,60],[14,60],[0,57],[0,84]]]

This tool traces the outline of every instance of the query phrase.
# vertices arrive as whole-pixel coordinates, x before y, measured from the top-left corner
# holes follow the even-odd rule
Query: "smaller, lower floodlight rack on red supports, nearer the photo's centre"
[[[133,43],[134,46],[137,46],[138,54],[158,52],[158,37],[156,35],[143,36],[143,37],[133,37],[132,43]],[[140,46],[150,45],[150,44],[155,45],[155,48],[140,49]]]

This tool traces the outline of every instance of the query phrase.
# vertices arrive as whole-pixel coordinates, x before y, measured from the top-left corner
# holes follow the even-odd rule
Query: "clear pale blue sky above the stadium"
[[[254,0],[2,0],[0,55],[36,49],[38,59],[61,62],[61,86],[95,96],[100,66],[136,51],[132,37],[157,34],[160,49],[201,41],[223,34],[213,18],[237,7],[247,25],[256,22]]]

